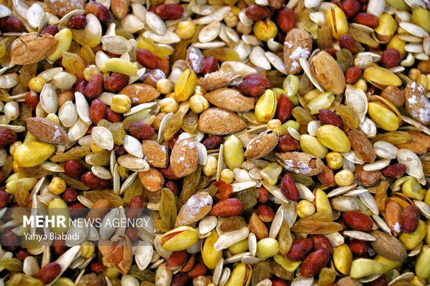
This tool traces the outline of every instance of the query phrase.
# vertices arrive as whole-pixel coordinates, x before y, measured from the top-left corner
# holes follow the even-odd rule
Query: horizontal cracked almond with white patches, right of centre
[[[302,174],[306,176],[318,175],[324,163],[318,157],[312,156],[311,154],[302,152],[285,152],[276,153],[284,169],[294,172],[295,174]]]

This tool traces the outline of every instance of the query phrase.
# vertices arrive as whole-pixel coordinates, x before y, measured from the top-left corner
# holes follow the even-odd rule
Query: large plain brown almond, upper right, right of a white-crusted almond
[[[345,75],[343,75],[341,66],[329,53],[321,51],[314,55],[309,62],[309,69],[312,76],[327,91],[340,95],[345,90]]]

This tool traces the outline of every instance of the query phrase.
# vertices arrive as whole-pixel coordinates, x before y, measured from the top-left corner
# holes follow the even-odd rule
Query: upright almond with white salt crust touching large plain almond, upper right
[[[308,59],[312,51],[312,36],[300,28],[293,28],[286,34],[284,42],[284,64],[286,73],[296,74],[302,71],[300,57]]]

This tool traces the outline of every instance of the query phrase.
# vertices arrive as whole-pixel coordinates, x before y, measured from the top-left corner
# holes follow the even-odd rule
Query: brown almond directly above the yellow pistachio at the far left
[[[28,132],[39,141],[58,145],[69,143],[69,136],[67,136],[65,129],[62,129],[62,127],[51,120],[31,117],[26,120],[26,123]]]

